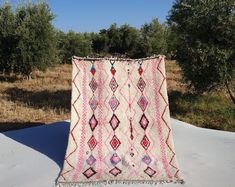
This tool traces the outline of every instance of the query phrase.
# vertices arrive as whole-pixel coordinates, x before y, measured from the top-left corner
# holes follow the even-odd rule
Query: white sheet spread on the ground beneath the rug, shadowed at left
[[[171,124],[186,183],[163,186],[235,186],[235,133],[174,119]],[[0,133],[0,187],[52,187],[62,168],[68,133],[69,122]]]

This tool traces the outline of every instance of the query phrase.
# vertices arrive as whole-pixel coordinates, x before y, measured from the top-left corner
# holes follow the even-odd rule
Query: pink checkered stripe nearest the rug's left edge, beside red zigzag
[[[78,176],[81,173],[83,162],[84,162],[84,145],[85,145],[85,137],[86,137],[86,126],[87,126],[87,70],[86,63],[83,62],[83,77],[82,77],[82,129],[81,129],[81,140],[80,147],[78,153],[77,167],[75,174],[73,176],[73,181],[76,181]]]

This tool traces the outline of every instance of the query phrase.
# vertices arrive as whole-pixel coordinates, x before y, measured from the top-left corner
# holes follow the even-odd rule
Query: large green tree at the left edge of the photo
[[[0,16],[1,72],[29,76],[33,69],[45,70],[56,61],[54,15],[46,3],[18,5],[15,12],[3,5],[0,12],[6,14]]]

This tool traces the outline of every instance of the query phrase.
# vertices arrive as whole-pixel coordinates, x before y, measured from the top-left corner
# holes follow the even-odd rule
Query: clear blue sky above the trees
[[[18,0],[10,1],[13,6]],[[140,28],[153,18],[166,21],[174,0],[48,0],[53,25],[64,32],[99,32],[112,23]]]

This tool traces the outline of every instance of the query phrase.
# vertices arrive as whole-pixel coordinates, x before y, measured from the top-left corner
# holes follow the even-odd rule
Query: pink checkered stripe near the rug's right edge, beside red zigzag
[[[155,117],[157,119],[157,125],[158,125],[158,135],[159,135],[159,141],[160,141],[160,150],[162,154],[162,163],[164,170],[168,176],[169,179],[172,179],[172,175],[169,171],[169,163],[167,161],[166,157],[166,151],[165,151],[165,142],[162,134],[162,124],[161,124],[161,117],[160,117],[160,104],[159,104],[159,85],[157,81],[157,64],[161,62],[162,59],[157,60],[151,60],[152,63],[152,81],[153,81],[153,91],[154,91],[154,101],[155,101]]]

